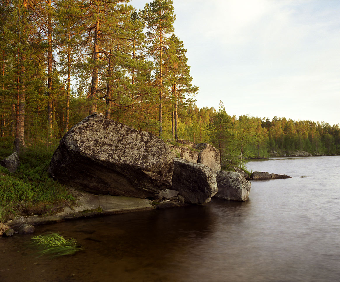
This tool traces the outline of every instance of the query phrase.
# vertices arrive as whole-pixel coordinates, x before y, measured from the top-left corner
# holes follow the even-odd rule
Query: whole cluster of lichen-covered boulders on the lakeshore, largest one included
[[[54,178],[93,194],[188,204],[204,204],[214,195],[246,200],[250,182],[220,170],[220,153],[209,144],[169,145],[98,113],[65,134],[49,166]]]

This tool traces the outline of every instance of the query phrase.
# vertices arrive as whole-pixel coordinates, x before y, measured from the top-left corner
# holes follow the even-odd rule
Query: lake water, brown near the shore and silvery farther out
[[[69,257],[37,258],[31,235],[0,239],[0,281],[340,281],[340,157],[248,167],[293,178],[253,181],[244,203],[36,228],[77,239],[85,250]]]

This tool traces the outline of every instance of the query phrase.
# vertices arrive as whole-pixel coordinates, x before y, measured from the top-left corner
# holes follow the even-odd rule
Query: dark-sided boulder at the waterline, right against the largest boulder
[[[216,174],[203,164],[174,158],[172,189],[188,203],[207,203],[217,193]]]

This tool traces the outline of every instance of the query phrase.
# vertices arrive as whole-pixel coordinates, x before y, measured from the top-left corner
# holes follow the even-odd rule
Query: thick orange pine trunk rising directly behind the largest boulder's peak
[[[97,5],[97,12],[99,12],[99,4]],[[92,69],[92,81],[91,81],[91,108],[90,114],[97,111],[97,101],[96,101],[96,92],[98,87],[98,51],[99,51],[99,19],[96,20],[96,27],[95,27],[95,37],[94,37],[94,47],[93,47],[93,60],[94,60],[94,67]]]

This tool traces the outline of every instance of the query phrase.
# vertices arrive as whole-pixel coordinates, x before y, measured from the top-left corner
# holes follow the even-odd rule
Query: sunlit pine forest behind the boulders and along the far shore
[[[240,117],[195,105],[171,0],[1,1],[0,143],[54,150],[93,112],[164,140],[208,142],[225,169],[270,151],[340,153],[339,124]],[[232,94],[232,93],[231,93]]]

